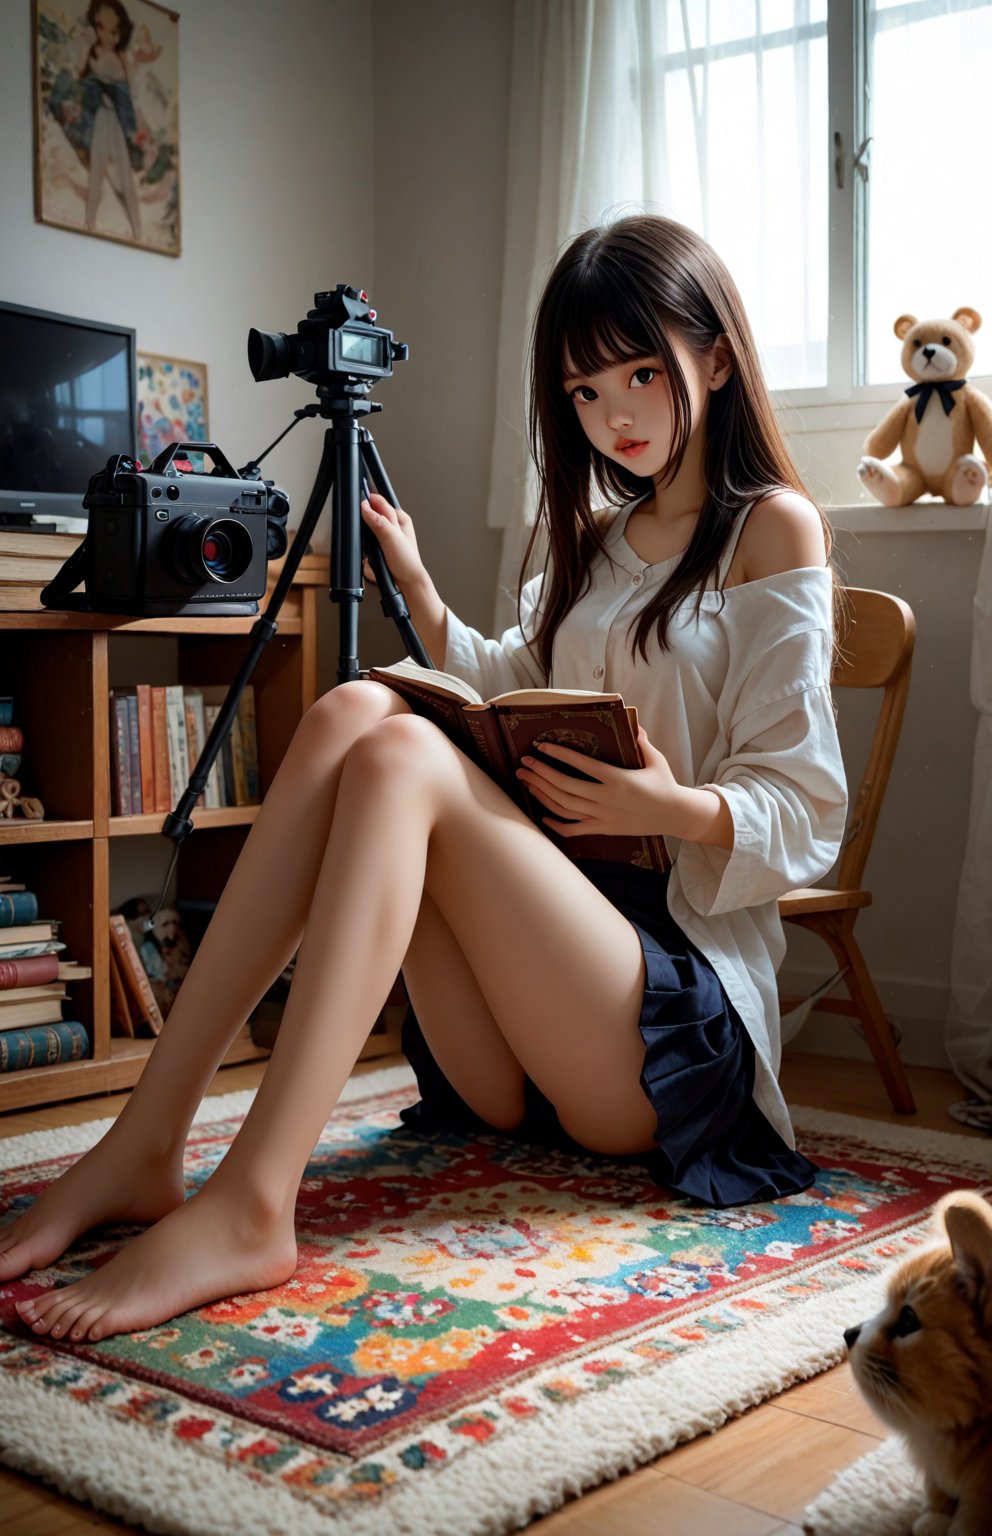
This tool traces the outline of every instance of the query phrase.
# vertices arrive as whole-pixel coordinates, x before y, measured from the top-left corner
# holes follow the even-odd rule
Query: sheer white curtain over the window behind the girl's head
[[[513,622],[527,335],[560,247],[634,209],[713,241],[774,387],[826,378],[826,0],[517,0],[488,524]]]

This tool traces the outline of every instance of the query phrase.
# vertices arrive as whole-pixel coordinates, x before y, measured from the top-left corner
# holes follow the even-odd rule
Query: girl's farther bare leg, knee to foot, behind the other
[[[183,1203],[197,1106],[299,945],[347,751],[405,710],[387,688],[353,682],[307,711],[131,1098],[104,1138],[0,1232],[0,1281],[51,1264],[88,1227],[158,1221]],[[260,902],[260,891],[278,899]]]

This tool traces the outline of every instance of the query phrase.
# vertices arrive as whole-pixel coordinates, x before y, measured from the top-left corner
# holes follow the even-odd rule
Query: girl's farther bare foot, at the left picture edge
[[[89,1227],[160,1221],[183,1200],[181,1152],[152,1158],[111,1129],[31,1210],[0,1229],[0,1283],[52,1264]]]

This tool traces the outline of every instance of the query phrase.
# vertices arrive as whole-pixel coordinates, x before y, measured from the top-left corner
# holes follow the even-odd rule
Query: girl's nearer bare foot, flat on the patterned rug
[[[212,1183],[86,1279],[18,1301],[21,1319],[52,1338],[103,1339],[281,1286],[296,1270],[292,1207],[263,1217]]]

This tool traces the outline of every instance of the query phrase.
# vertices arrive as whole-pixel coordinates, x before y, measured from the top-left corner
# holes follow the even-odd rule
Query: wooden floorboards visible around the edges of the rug
[[[356,1071],[398,1058],[362,1063]],[[210,1092],[253,1087],[263,1063],[226,1068]],[[874,1068],[828,1057],[786,1055],[782,1084],[797,1104],[845,1111],[897,1124],[967,1132],[946,1114],[961,1098],[949,1072],[909,1068],[914,1120],[889,1111]],[[0,1137],[114,1115],[123,1094],[0,1115]],[[852,1321],[858,1321],[852,1318]],[[885,1439],[846,1366],[783,1392],[700,1439],[617,1482],[605,1484],[528,1527],[528,1536],[800,1536],[800,1516],[835,1471]],[[137,1530],[97,1514],[29,1478],[0,1468],[3,1536],[72,1536],[83,1530]],[[292,1536],[292,1533],[287,1533]],[[432,1536],[424,1531],[424,1536]]]

